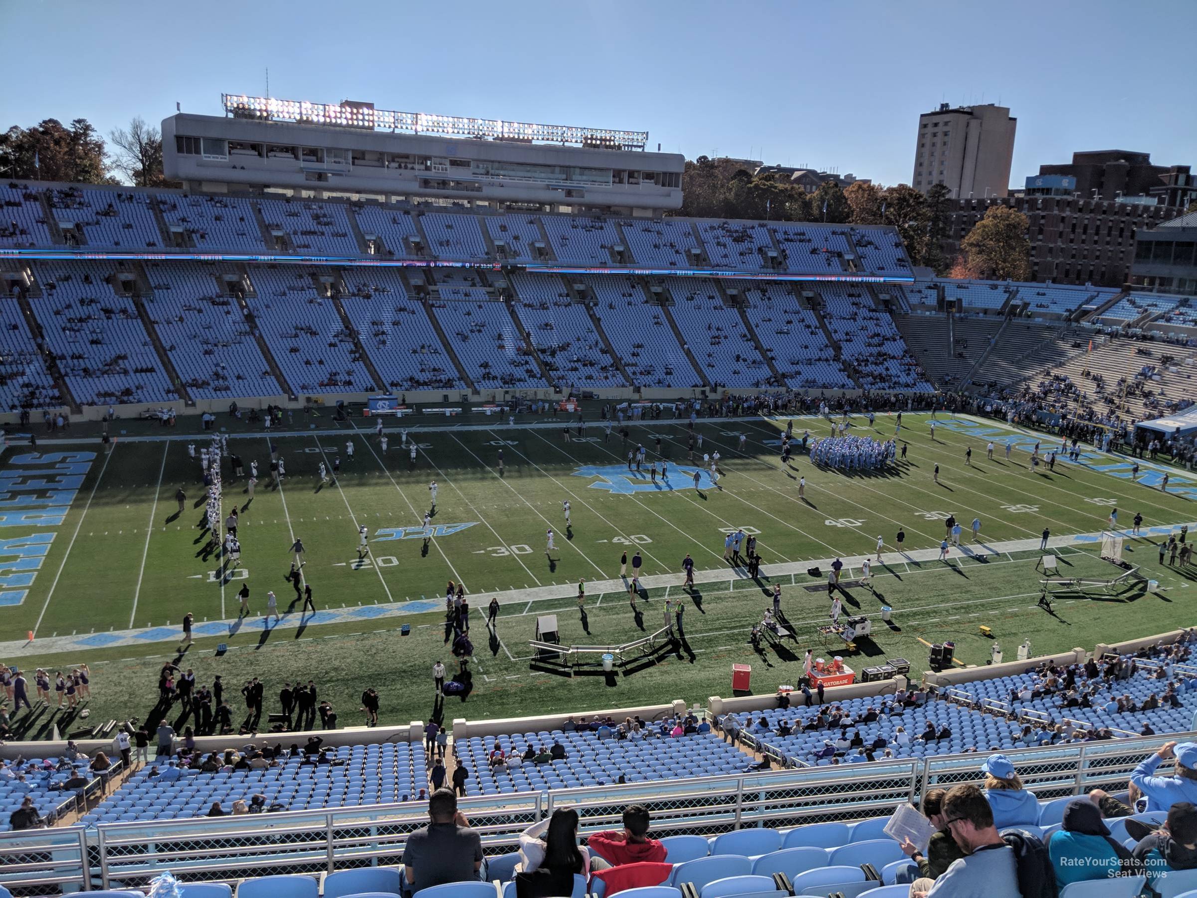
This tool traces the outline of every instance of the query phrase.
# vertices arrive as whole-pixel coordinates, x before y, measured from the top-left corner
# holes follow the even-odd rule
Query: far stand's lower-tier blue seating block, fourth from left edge
[[[320,296],[310,271],[250,269],[255,295],[245,304],[291,389],[345,393],[376,389],[333,301]]]

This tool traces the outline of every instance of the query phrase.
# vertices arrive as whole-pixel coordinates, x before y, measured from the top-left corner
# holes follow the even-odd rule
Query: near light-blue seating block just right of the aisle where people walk
[[[529,746],[546,750],[558,741],[565,758],[551,764],[525,760],[517,767],[493,773],[492,752],[524,754]],[[457,742],[457,757],[470,771],[466,790],[470,795],[516,791],[546,791],[582,785],[681,779],[694,776],[724,776],[746,770],[752,763],[743,752],[712,735],[637,740],[600,739],[597,733],[519,733],[500,736],[472,736]]]

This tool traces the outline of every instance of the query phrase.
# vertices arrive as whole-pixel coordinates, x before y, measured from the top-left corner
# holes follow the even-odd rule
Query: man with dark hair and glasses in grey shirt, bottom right
[[[1022,898],[1014,850],[994,825],[985,793],[954,785],[943,797],[943,829],[965,853],[936,880],[917,879],[911,898]]]

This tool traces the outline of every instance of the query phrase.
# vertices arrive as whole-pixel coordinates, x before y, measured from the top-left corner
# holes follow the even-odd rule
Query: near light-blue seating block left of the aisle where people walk
[[[305,811],[388,805],[414,799],[420,789],[427,789],[424,746],[419,742],[340,746],[329,752],[335,764],[304,763],[304,756],[294,753],[263,770],[221,767],[207,773],[196,766],[183,769],[182,776],[170,781],[151,777],[153,765],[146,765],[81,823],[203,817],[215,801],[229,813],[235,801],[248,805],[255,794],[266,796],[267,807]],[[159,765],[159,771],[163,769],[165,765]]]

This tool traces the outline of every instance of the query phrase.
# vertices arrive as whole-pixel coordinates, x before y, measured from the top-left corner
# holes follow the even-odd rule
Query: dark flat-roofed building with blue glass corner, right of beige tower
[[[1153,165],[1150,153],[1134,150],[1073,153],[1071,163],[1040,165],[1039,174],[1076,178],[1074,189],[1086,199],[1149,196],[1160,205],[1181,207],[1197,199],[1187,165]]]

